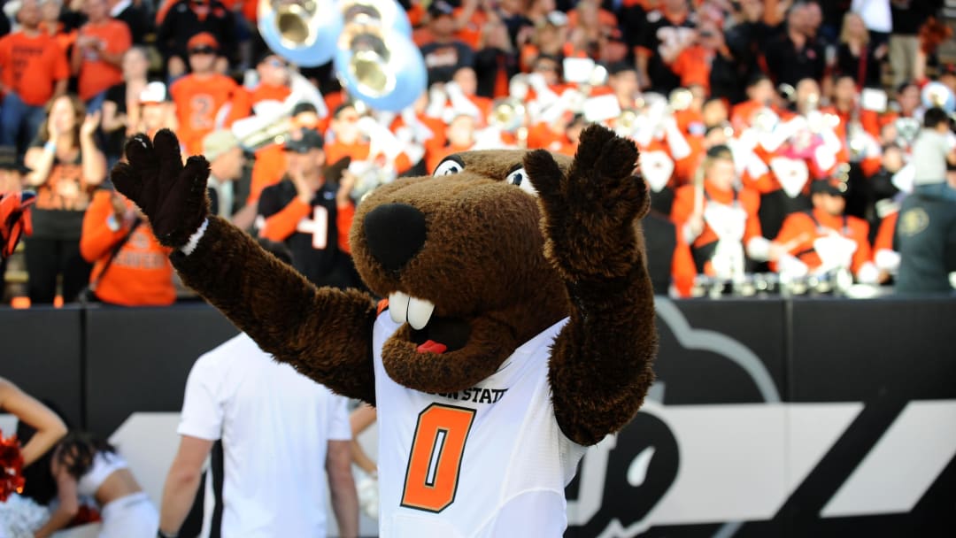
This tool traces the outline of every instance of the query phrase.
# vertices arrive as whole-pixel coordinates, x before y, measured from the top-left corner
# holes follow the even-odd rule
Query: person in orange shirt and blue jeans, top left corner
[[[51,98],[66,92],[70,66],[50,35],[39,31],[36,0],[23,0],[20,30],[0,38],[0,144],[14,145],[22,155],[46,117]],[[22,138],[21,138],[22,137]]]

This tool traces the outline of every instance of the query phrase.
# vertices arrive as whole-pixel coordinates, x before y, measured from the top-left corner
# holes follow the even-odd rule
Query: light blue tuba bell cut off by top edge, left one
[[[328,63],[342,29],[335,0],[259,0],[258,29],[266,45],[301,67]]]

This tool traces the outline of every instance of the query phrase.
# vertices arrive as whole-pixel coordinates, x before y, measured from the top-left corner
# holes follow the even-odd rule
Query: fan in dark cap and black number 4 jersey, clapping
[[[293,252],[293,267],[316,286],[355,287],[348,246],[355,180],[344,170],[349,160],[326,167],[322,135],[315,129],[296,135],[285,143],[285,178],[259,197],[258,235],[285,243]]]

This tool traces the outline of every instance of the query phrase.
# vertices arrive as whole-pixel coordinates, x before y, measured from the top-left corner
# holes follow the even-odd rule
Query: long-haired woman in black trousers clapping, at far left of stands
[[[83,214],[106,179],[106,159],[94,140],[99,113],[87,115],[83,101],[72,95],[54,98],[47,110],[26,156],[33,170],[27,183],[36,189],[33,235],[25,241],[33,304],[54,302],[60,276],[66,302],[89,282],[90,265],[79,251]]]

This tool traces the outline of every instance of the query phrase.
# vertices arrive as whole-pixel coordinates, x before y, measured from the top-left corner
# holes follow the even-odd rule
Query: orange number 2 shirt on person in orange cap
[[[189,155],[203,152],[203,138],[250,113],[249,92],[226,75],[185,75],[169,88],[176,103],[178,135]],[[219,118],[225,105],[229,111]],[[222,119],[222,125],[217,120]]]

